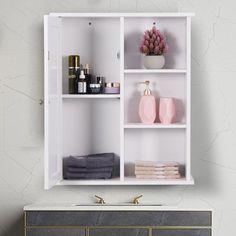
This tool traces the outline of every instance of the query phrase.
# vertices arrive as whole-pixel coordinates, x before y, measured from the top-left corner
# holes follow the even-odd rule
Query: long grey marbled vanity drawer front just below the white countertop
[[[211,211],[27,211],[26,226],[211,226]]]

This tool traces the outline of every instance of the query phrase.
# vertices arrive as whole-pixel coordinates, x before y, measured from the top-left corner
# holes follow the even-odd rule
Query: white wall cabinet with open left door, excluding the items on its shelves
[[[54,185],[193,184],[190,164],[191,13],[51,13],[44,18],[45,188]],[[142,67],[141,35],[157,22],[170,46],[161,70]],[[78,54],[106,81],[119,81],[119,95],[68,94],[68,55]],[[177,121],[145,125],[138,117],[143,88],[174,97]],[[63,180],[62,158],[114,152],[120,177]],[[185,175],[177,180],[138,180],[135,160],[177,161]]]

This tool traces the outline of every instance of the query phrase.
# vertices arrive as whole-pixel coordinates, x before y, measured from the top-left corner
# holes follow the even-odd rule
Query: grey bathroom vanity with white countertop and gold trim
[[[211,236],[212,211],[135,205],[31,205],[25,236]]]

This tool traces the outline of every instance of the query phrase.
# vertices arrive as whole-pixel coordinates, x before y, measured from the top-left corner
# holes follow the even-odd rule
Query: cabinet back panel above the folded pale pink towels
[[[125,175],[134,175],[136,160],[186,163],[184,129],[125,130]]]

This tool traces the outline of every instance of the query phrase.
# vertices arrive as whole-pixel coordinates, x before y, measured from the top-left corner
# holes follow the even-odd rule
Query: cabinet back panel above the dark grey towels
[[[120,153],[118,99],[63,101],[63,156]]]

